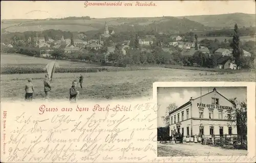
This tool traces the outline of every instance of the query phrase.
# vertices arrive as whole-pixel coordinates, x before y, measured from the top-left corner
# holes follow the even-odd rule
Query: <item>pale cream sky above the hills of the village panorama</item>
[[[121,6],[87,6],[86,1],[1,1],[1,19],[46,19],[69,16],[105,17],[161,17],[187,15],[215,15],[227,13],[255,14],[255,1],[138,1],[156,6],[135,6],[136,1]],[[88,1],[95,3],[96,1]],[[99,2],[99,1],[97,1]],[[101,1],[111,3],[113,1]],[[133,6],[124,4],[132,3]]]

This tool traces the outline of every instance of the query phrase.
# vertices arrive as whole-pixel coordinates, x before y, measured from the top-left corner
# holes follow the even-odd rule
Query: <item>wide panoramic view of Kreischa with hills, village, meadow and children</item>
[[[209,10],[197,1],[2,1],[1,100],[147,98],[154,82],[255,82],[255,2],[202,5]]]

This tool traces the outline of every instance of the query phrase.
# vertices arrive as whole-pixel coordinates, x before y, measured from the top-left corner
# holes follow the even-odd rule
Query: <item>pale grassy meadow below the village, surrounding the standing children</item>
[[[32,58],[25,56],[13,56],[16,60],[11,60],[9,56],[1,55],[1,66],[49,63],[47,59]],[[2,58],[4,60],[2,60]],[[19,60],[18,60],[19,59]],[[59,61],[60,66],[83,65],[83,63],[73,63]],[[86,64],[84,64],[86,65]],[[93,66],[93,65],[91,65]],[[84,76],[84,88],[80,91],[78,99],[123,99],[151,97],[154,82],[255,82],[254,72],[239,73],[219,73],[198,70],[181,70],[161,67],[145,68],[113,68],[113,71],[86,72]],[[111,69],[110,68],[110,69]],[[115,70],[115,71],[114,71]],[[35,100],[43,99],[43,79],[45,73],[36,74],[1,74],[1,100],[24,100],[24,87],[29,77],[32,78],[35,87]],[[55,73],[53,77],[53,89],[50,97],[52,99],[67,99],[71,83],[80,73]]]

